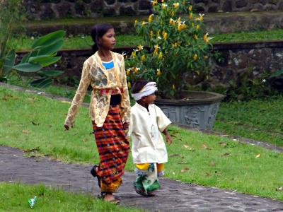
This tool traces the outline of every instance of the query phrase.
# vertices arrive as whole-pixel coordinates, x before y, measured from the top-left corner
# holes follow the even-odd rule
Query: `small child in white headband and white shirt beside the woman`
[[[172,143],[166,130],[171,121],[154,105],[156,90],[155,82],[144,80],[132,86],[136,104],[131,109],[129,136],[132,136],[132,158],[137,172],[134,189],[142,196],[155,196],[152,192],[160,188],[158,177],[164,174],[163,163],[168,160],[161,132]]]

